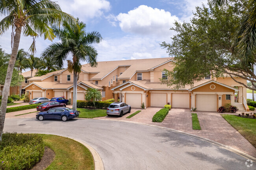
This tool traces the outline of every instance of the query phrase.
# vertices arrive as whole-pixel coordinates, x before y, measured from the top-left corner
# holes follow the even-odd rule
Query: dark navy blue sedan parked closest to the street
[[[66,107],[58,107],[52,108],[46,112],[39,112],[36,114],[35,118],[39,121],[43,121],[46,119],[57,119],[62,121],[67,121],[69,119],[73,119],[79,116],[77,110],[72,110]]]

